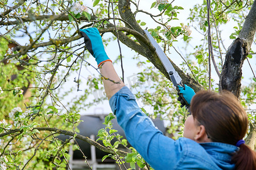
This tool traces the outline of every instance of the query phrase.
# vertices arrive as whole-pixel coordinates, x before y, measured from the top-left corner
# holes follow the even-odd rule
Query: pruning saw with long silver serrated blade
[[[180,75],[174,69],[174,66],[172,66],[172,63],[170,62],[166,54],[163,52],[163,50],[160,48],[160,46],[158,45],[158,42],[155,41],[155,39],[151,36],[151,34],[146,29],[144,29],[144,33],[146,33],[148,40],[150,40],[151,44],[155,47],[156,54],[158,55],[160,61],[162,62],[164,69],[166,69],[167,73],[169,74],[172,83],[174,84],[177,91],[179,92],[179,88],[177,88],[177,86],[184,87],[182,83],[182,79],[180,78]],[[181,98],[183,98],[182,95],[181,95]],[[189,105],[185,99],[184,99],[184,102],[186,105]]]

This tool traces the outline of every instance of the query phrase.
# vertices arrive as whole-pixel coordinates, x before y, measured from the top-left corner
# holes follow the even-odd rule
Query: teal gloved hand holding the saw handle
[[[195,91],[186,84],[183,87],[177,86],[176,88],[179,95],[177,100],[181,103],[180,107],[182,108],[184,105],[189,107],[192,97],[196,94]]]

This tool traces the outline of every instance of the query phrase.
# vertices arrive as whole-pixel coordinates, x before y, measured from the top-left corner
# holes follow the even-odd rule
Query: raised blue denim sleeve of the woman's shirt
[[[154,169],[172,169],[180,158],[179,143],[163,135],[138,107],[135,97],[123,87],[109,100],[118,124],[144,160]]]

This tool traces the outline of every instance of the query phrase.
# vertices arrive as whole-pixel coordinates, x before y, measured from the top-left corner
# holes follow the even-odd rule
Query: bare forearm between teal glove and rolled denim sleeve
[[[106,96],[110,99],[116,92],[121,90],[125,84],[119,78],[111,61],[106,61],[100,66],[100,71],[103,78],[103,83],[106,91]]]

